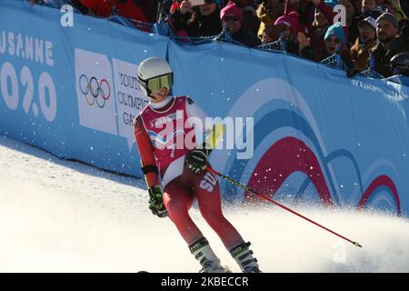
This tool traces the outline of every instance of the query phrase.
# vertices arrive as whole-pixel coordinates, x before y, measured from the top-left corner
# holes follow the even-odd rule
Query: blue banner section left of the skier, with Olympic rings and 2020
[[[0,2],[0,132],[56,156],[141,175],[132,121],[148,103],[137,64],[168,39],[106,19]],[[16,21],[16,20],[19,21]]]

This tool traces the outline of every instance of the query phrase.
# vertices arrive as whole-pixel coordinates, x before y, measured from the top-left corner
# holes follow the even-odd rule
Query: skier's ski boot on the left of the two
[[[205,237],[200,238],[189,246],[190,252],[195,259],[200,262],[202,269],[199,273],[229,273],[227,269],[220,265],[220,259],[214,255],[209,242]]]

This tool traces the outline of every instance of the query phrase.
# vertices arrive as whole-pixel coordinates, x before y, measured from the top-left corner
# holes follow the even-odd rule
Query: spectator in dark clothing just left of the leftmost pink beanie
[[[184,0],[172,15],[175,30],[185,30],[190,37],[219,35],[222,32],[219,5],[219,1],[205,0],[205,5],[192,7],[190,1]]]

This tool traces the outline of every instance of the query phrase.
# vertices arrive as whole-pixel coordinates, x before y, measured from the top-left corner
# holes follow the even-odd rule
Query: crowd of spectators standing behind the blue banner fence
[[[258,47],[280,42],[288,54],[320,62],[339,55],[349,76],[394,75],[391,59],[409,53],[406,0],[30,0],[74,5],[81,13],[165,22],[175,37],[224,34]],[[345,17],[335,13],[343,5]]]

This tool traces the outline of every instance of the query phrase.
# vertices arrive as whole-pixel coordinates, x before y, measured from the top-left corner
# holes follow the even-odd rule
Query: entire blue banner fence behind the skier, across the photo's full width
[[[285,202],[407,215],[408,87],[237,45],[180,45],[84,15],[63,27],[61,15],[0,1],[2,134],[140,176],[132,119],[148,100],[137,64],[161,56],[175,71],[174,95],[235,125],[212,153],[216,170]],[[252,200],[222,186],[227,201]]]

